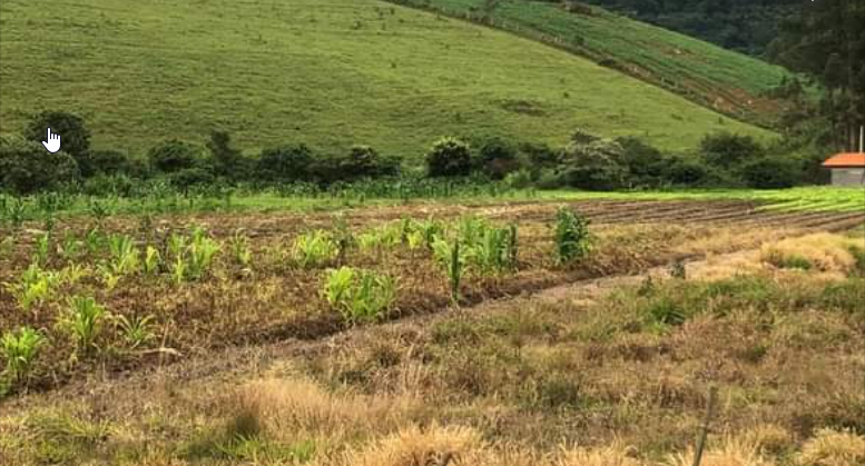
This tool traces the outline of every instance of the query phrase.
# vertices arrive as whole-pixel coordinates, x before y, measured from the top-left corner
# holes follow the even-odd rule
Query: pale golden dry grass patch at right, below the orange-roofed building
[[[764,245],[760,258],[782,268],[807,264],[820,271],[847,274],[856,267],[853,248],[865,250],[865,245],[854,238],[820,232]]]

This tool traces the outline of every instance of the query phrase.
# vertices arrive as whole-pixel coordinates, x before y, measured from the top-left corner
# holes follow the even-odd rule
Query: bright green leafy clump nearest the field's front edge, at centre
[[[322,291],[350,324],[381,319],[396,300],[396,281],[371,270],[341,267],[331,270]]]

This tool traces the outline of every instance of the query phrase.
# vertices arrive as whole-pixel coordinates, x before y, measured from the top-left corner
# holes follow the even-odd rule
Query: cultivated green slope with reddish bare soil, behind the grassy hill
[[[395,1],[553,43],[745,121],[771,126],[783,107],[768,92],[787,75],[784,68],[602,8],[530,0]]]

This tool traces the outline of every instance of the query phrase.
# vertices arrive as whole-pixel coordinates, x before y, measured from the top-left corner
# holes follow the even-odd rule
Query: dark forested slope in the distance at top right
[[[803,0],[582,0],[740,52],[763,56]]]

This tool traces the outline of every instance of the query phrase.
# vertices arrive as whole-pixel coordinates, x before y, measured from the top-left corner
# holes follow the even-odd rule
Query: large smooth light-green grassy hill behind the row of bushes
[[[0,131],[69,110],[97,147],[131,151],[215,127],[248,150],[409,157],[449,133],[562,143],[584,127],[670,150],[716,130],[771,137],[537,41],[375,0],[3,0],[0,57]]]

